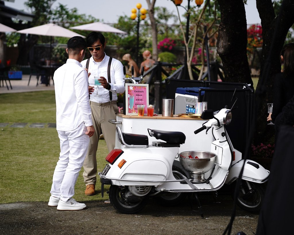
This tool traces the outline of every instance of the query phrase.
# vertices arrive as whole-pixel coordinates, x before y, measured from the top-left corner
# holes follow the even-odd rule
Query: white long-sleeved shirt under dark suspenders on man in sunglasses
[[[94,61],[93,56],[91,56],[89,61],[88,73],[91,73],[91,75],[89,76],[88,81],[90,86],[94,86],[94,92],[90,95],[90,100],[96,103],[107,103],[110,101],[109,90],[103,88],[103,86],[98,86],[98,96],[95,96],[97,86],[94,85],[94,76],[104,77],[108,81],[107,67],[109,58],[110,57],[105,54],[101,62],[96,62]],[[81,62],[83,68],[86,68],[86,63],[87,60]],[[123,64],[119,60],[112,58],[110,68],[110,91],[112,92],[112,100],[117,100],[117,94],[124,93],[125,91],[125,81],[123,80],[123,77]]]

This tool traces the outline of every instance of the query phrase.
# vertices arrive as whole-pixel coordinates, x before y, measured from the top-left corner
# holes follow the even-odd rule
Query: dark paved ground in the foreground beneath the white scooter
[[[48,202],[0,204],[0,234],[223,234],[230,221],[232,199],[199,196],[204,218],[188,198],[177,207],[163,207],[154,199],[138,214],[118,213],[111,204],[93,198],[81,211],[57,211]],[[192,200],[193,202],[193,200]],[[237,208],[231,234],[255,234],[257,214]]]

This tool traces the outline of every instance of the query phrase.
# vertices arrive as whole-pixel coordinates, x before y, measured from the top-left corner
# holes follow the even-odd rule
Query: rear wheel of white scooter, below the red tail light
[[[148,197],[137,197],[130,192],[128,187],[111,185],[109,200],[117,211],[124,214],[134,214],[146,206]]]

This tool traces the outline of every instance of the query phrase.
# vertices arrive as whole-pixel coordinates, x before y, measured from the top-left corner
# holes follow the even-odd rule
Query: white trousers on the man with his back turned
[[[74,186],[86,157],[90,138],[81,123],[75,130],[57,131],[60,140],[59,161],[54,170],[51,196],[67,202],[74,196]]]

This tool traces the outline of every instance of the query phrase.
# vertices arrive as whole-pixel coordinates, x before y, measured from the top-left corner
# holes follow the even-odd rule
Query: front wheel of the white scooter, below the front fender
[[[259,212],[264,194],[264,190],[260,184],[242,180],[238,190],[237,205],[245,211]]]

